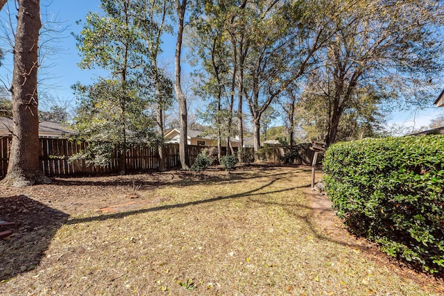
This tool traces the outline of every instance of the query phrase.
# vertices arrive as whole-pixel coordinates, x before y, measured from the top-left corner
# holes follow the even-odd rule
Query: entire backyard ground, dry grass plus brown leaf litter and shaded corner
[[[349,236],[311,168],[55,178],[1,188],[0,295],[441,295]]]

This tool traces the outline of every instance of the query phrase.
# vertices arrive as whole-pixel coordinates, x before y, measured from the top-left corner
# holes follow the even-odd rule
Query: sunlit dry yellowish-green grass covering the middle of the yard
[[[140,189],[158,202],[71,215],[0,295],[433,295],[323,233],[309,184],[309,168],[266,168]]]

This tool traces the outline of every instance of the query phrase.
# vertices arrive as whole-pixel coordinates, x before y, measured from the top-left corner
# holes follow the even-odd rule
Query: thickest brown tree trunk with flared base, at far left
[[[37,68],[40,0],[19,0],[12,74],[12,119],[14,121],[6,186],[51,182],[40,165],[39,119],[37,116]]]

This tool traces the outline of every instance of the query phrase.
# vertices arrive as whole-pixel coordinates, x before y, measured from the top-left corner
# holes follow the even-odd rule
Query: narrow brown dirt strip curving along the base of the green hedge
[[[336,216],[334,209],[332,209],[332,202],[325,193],[318,193],[309,188],[305,189],[304,193],[309,198],[312,220],[320,229],[323,229],[323,234],[329,236],[333,241],[353,247],[355,252],[360,252],[365,259],[389,268],[396,274],[415,281],[424,288],[428,287],[430,293],[444,295],[444,281],[442,279],[412,270],[404,263],[379,250],[375,243],[350,234],[341,219]]]

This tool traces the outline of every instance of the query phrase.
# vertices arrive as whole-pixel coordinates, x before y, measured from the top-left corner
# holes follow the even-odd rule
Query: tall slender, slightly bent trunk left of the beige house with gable
[[[187,114],[187,98],[182,92],[180,85],[180,53],[182,51],[182,37],[185,10],[187,9],[187,0],[177,1],[178,12],[178,36],[176,40],[176,53],[174,55],[174,90],[176,91],[176,98],[179,105],[179,121],[180,121],[180,139],[179,139],[179,158],[182,170],[189,170],[187,145],[188,145],[188,114]]]

